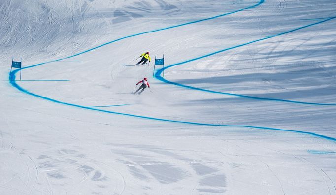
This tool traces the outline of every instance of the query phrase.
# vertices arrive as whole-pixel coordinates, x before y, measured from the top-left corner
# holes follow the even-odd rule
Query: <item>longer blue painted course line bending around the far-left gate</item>
[[[256,5],[253,5],[253,6],[244,8],[244,9],[240,9],[240,10],[238,10],[238,11],[243,11],[243,10],[246,10],[246,9],[254,8],[254,7],[256,7],[256,6],[259,6],[259,5],[262,4],[263,2],[264,2],[264,0],[260,0],[260,2],[257,3]],[[187,24],[193,24],[193,23],[196,23],[196,22],[202,22],[202,21],[205,21],[205,20],[210,20],[210,19],[214,19],[214,18],[221,17],[221,16],[229,15],[229,14],[232,14],[232,13],[236,13],[236,12],[238,12],[238,11],[234,11],[234,12],[230,12],[230,13],[222,14],[222,15],[215,16],[215,17],[212,17],[212,18],[207,18],[207,19],[203,19],[203,20],[198,20],[198,21],[194,21],[194,22],[189,22],[189,23],[185,23],[185,24],[181,24],[181,25],[176,25],[176,26],[173,26],[173,27],[168,27],[168,28],[164,28],[164,29],[160,29],[160,30],[149,31],[149,32],[142,32],[142,33],[138,33],[138,34],[134,34],[134,35],[126,36],[126,37],[119,38],[119,39],[116,39],[116,40],[114,40],[114,41],[111,41],[111,42],[102,44],[102,45],[97,46],[97,47],[95,47],[95,48],[86,50],[86,51],[84,51],[84,52],[81,52],[81,53],[78,53],[78,54],[75,54],[75,55],[66,57],[66,58],[62,58],[62,59],[58,59],[58,60],[53,60],[53,61],[48,61],[48,62],[44,62],[44,63],[39,63],[39,64],[36,64],[36,65],[31,65],[31,66],[24,67],[24,68],[22,68],[22,69],[32,68],[32,67],[35,67],[35,66],[44,65],[44,64],[51,63],[51,62],[57,62],[57,61],[61,61],[61,60],[64,60],[64,59],[72,58],[72,57],[75,57],[75,56],[78,56],[78,55],[87,53],[87,52],[89,52],[89,51],[92,51],[92,50],[94,50],[94,49],[97,49],[97,48],[99,48],[99,47],[102,47],[102,46],[104,46],[104,45],[107,45],[107,44],[110,44],[110,43],[113,43],[113,42],[116,42],[116,41],[119,41],[119,40],[122,40],[122,39],[126,39],[126,38],[130,38],[130,37],[138,36],[138,35],[140,35],[140,34],[145,34],[145,33],[150,33],[150,32],[158,32],[158,31],[163,31],[163,30],[167,30],[167,29],[171,29],[171,28],[176,28],[176,27],[184,26],[184,25],[187,25]],[[254,41],[254,42],[256,42],[256,41]],[[203,57],[203,58],[204,58],[204,57]],[[185,63],[186,63],[186,62],[185,62]],[[176,65],[177,65],[177,64],[176,64]],[[196,123],[196,122],[187,122],[187,121],[176,121],[176,120],[168,120],[168,119],[160,119],[160,118],[154,118],[154,117],[146,117],[146,116],[141,116],[141,115],[127,114],[127,113],[121,113],[121,112],[112,112],[112,111],[107,111],[107,110],[97,109],[97,108],[95,108],[95,107],[85,107],[85,106],[81,106],[81,105],[71,104],[71,103],[62,102],[62,101],[59,101],[59,100],[56,100],[56,99],[52,99],[52,98],[49,98],[49,97],[43,97],[43,96],[40,96],[40,95],[31,93],[31,92],[29,92],[28,90],[23,89],[22,87],[20,87],[20,86],[15,82],[16,73],[17,73],[18,71],[19,71],[19,69],[16,69],[16,70],[12,71],[12,72],[9,74],[9,82],[10,82],[10,84],[11,84],[13,87],[15,87],[15,88],[18,89],[19,91],[21,91],[21,92],[23,92],[23,93],[26,93],[26,94],[28,94],[28,95],[31,95],[31,96],[34,96],[34,97],[38,97],[38,98],[41,98],[41,99],[44,99],[44,100],[48,100],[48,101],[51,101],[51,102],[54,102],[54,103],[60,103],[60,104],[67,105],[67,106],[73,106],[73,107],[77,107],[77,108],[82,108],[82,109],[87,109],[87,110],[94,110],[94,111],[99,111],[99,112],[104,112],[104,113],[110,113],[110,114],[117,114],[117,115],[123,115],[123,116],[130,116],[130,117],[141,118],[141,119],[156,120],[156,121],[163,121],[163,122],[173,122],[173,123],[181,123],[181,124],[189,124],[189,125],[202,125],[202,126],[212,126],[212,127],[242,127],[242,128],[261,129],[261,130],[278,130],[278,131],[296,132],[296,133],[307,134],[307,135],[311,135],[311,136],[315,136],[315,137],[319,137],[319,138],[323,138],[323,139],[327,139],[327,140],[331,140],[331,141],[336,141],[336,138],[329,137],[329,136],[325,136],[325,135],[320,135],[320,134],[317,134],[317,133],[307,132],[307,131],[285,130],[285,129],[277,129],[277,128],[269,128],[269,127],[247,126],[247,125],[219,125],[219,124],[206,124],[206,123]]]

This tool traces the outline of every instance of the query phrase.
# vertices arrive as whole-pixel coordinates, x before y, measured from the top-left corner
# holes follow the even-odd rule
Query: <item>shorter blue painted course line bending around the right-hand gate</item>
[[[257,39],[257,40],[250,41],[250,42],[247,42],[247,43],[244,43],[244,44],[240,44],[240,45],[236,45],[236,46],[229,47],[229,48],[226,48],[226,49],[222,49],[222,50],[219,50],[219,51],[216,51],[216,52],[213,52],[213,53],[204,55],[204,56],[200,56],[200,57],[197,57],[197,58],[193,58],[193,59],[190,59],[190,60],[187,60],[187,61],[183,61],[183,62],[180,62],[180,63],[176,63],[176,64],[168,65],[168,66],[166,66],[166,67],[164,67],[164,68],[159,69],[159,70],[155,73],[155,77],[156,77],[157,79],[159,79],[160,81],[163,81],[163,82],[168,83],[168,84],[172,84],[172,85],[176,85],[176,86],[180,86],[180,87],[184,87],[184,88],[189,88],[189,89],[193,89],[193,90],[199,90],[199,91],[203,91],[203,92],[215,93],[215,94],[224,94],[224,95],[229,95],[229,96],[237,96],[237,97],[244,97],[244,98],[250,98],[250,99],[257,99],[257,100],[281,101],[281,102],[298,103],[298,104],[309,104],[309,105],[336,105],[336,103],[312,103],[312,102],[304,102],[304,101],[293,101],[293,100],[276,99],[276,98],[254,97],[254,96],[247,96],[247,95],[241,95],[241,94],[233,94],[233,93],[226,93],[226,92],[218,92],[218,91],[206,90],[206,89],[202,89],[202,88],[197,88],[197,87],[192,87],[192,86],[189,86],[189,85],[183,85],[183,84],[180,84],[180,83],[172,82],[172,81],[169,81],[169,80],[167,80],[167,79],[165,79],[165,78],[163,78],[163,77],[161,76],[161,74],[162,74],[162,72],[163,72],[164,70],[166,70],[166,69],[168,69],[168,68],[171,68],[171,67],[173,67],[173,66],[183,65],[183,64],[186,64],[186,63],[189,63],[189,62],[193,62],[193,61],[196,61],[196,60],[200,60],[200,59],[202,59],[202,58],[206,58],[206,57],[209,57],[209,56],[212,56],[212,55],[215,55],[215,54],[218,54],[218,53],[222,53],[222,52],[225,52],[225,51],[228,51],[228,50],[232,50],[232,49],[235,49],[235,48],[238,48],[238,47],[242,47],[242,46],[245,46],[245,45],[249,45],[249,44],[252,44],[252,43],[255,43],[255,42],[259,42],[259,41],[262,41],[262,40],[267,40],[267,39],[274,38],[274,37],[277,37],[277,36],[281,36],[281,35],[284,35],[284,34],[288,34],[288,33],[294,32],[294,31],[298,31],[298,30],[300,30],[300,29],[304,29],[304,28],[307,28],[307,27],[311,27],[311,26],[314,26],[314,25],[318,25],[318,24],[327,22],[327,21],[332,20],[332,19],[335,19],[335,18],[336,18],[336,16],[335,16],[335,17],[328,18],[328,19],[326,19],[326,20],[322,20],[322,21],[319,21],[319,22],[315,22],[315,23],[313,23],[313,24],[305,25],[305,26],[302,26],[302,27],[299,27],[299,28],[296,28],[296,29],[293,29],[293,30],[290,30],[290,31],[287,31],[287,32],[282,32],[282,33],[279,33],[279,34],[276,34],[276,35],[267,36],[267,37],[265,37],[265,38]]]

